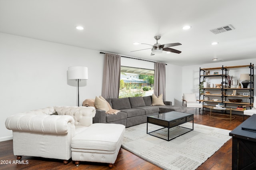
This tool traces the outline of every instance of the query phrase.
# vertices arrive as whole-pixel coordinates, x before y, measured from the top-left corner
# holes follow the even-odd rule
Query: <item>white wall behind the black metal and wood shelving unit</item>
[[[180,91],[180,95],[183,93],[196,93],[199,98],[199,69],[201,68],[212,68],[212,67],[222,67],[223,66],[236,66],[236,65],[250,65],[250,63],[255,64],[256,59],[243,59],[238,61],[223,61],[223,62],[214,62],[203,65],[191,65],[182,67],[182,90]],[[241,82],[239,80],[241,73],[250,73],[250,69],[247,67],[237,68],[237,69],[228,69],[229,75],[233,75],[234,79],[238,79],[238,83]],[[219,74],[221,70],[218,70]],[[210,73],[212,74],[212,73]],[[254,77],[255,77],[255,68],[254,68]],[[207,81],[211,81],[211,83],[220,83],[218,80],[208,78]],[[255,78],[254,78],[255,81]],[[255,85],[254,85],[255,86]],[[248,93],[248,92],[247,92]]]

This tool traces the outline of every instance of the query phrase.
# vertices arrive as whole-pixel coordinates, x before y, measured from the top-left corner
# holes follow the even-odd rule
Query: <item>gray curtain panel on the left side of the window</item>
[[[105,54],[102,82],[102,97],[118,98],[120,85],[121,56]]]

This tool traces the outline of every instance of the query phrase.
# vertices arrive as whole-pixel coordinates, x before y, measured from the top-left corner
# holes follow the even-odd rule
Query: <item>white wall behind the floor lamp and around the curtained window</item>
[[[8,116],[55,105],[77,105],[77,82],[67,80],[69,66],[88,67],[80,81],[84,99],[101,95],[104,54],[100,51],[0,33],[0,141],[12,139]],[[154,63],[121,58],[121,65],[154,69]],[[182,67],[166,66],[166,100],[180,99]],[[178,87],[176,83],[178,82]]]

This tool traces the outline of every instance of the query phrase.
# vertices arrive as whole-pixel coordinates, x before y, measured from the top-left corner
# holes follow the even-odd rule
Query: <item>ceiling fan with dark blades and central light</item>
[[[169,51],[172,53],[181,53],[181,51],[178,51],[176,49],[173,48],[168,48],[168,47],[173,47],[176,45],[181,45],[181,43],[167,43],[167,44],[163,44],[161,45],[160,43],[158,43],[158,40],[161,38],[161,36],[154,36],[156,43],[154,45],[150,45],[147,43],[141,43],[141,44],[146,44],[146,45],[150,45],[152,46],[152,48],[146,48],[146,49],[151,49],[151,55],[155,55],[155,54],[160,54],[164,51]],[[140,50],[144,50],[144,49],[139,49],[139,50],[135,50],[135,51],[140,51]],[[134,52],[134,51],[131,51]]]

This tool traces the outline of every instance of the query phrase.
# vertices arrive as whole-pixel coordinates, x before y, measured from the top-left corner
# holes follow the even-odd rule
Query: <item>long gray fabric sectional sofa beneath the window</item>
[[[152,96],[126,97],[121,99],[106,99],[113,109],[120,110],[116,115],[106,114],[106,111],[96,109],[93,123],[116,123],[126,127],[147,122],[147,116],[170,111],[186,112],[184,106],[172,105],[171,101],[164,101],[165,105],[152,106]]]

